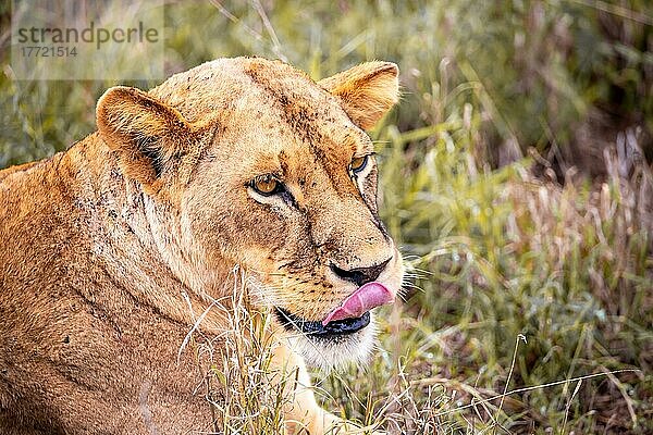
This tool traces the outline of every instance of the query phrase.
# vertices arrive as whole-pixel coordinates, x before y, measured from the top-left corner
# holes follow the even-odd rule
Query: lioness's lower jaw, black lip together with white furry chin
[[[292,349],[307,364],[323,371],[338,370],[349,363],[366,364],[377,343],[377,325],[371,311],[360,318],[331,322],[306,321],[276,308],[276,319],[286,331]]]

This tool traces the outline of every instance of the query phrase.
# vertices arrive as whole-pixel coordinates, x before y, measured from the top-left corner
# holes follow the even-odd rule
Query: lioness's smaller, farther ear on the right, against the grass
[[[392,62],[367,62],[318,82],[341,100],[352,121],[369,129],[399,99],[399,69]]]

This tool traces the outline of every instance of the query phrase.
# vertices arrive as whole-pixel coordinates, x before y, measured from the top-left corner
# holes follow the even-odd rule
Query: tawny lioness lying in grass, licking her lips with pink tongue
[[[370,62],[315,83],[217,60],[107,90],[96,133],[0,172],[0,433],[212,431],[206,373],[178,351],[197,313],[206,336],[223,331],[210,304],[235,264],[281,330],[275,366],[298,373],[287,432],[337,425],[305,360],[365,360],[370,310],[402,283],[364,132],[397,101],[397,74]]]

